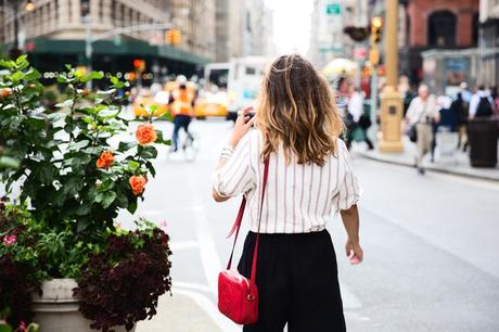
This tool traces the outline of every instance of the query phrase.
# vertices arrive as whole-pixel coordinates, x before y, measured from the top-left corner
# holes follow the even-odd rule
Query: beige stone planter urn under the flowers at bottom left
[[[73,279],[52,279],[42,283],[42,296],[33,295],[34,321],[40,324],[39,332],[97,332],[90,329],[91,321],[78,311],[78,301],[73,297],[76,286]],[[125,327],[113,330],[126,332]]]

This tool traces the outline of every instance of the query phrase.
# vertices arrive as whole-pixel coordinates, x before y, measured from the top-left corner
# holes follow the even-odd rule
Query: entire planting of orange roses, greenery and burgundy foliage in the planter
[[[44,279],[74,278],[93,328],[129,329],[155,314],[171,283],[168,235],[152,224],[133,232],[114,226],[120,209],[136,212],[155,176],[153,143],[169,143],[154,128],[154,110],[126,139],[128,82],[111,77],[107,90],[89,91],[103,75],[67,66],[57,82],[68,99],[46,112],[40,74],[25,55],[0,67],[0,182],[20,191],[20,204],[3,204],[0,218],[0,309],[15,307],[28,322],[26,294]]]

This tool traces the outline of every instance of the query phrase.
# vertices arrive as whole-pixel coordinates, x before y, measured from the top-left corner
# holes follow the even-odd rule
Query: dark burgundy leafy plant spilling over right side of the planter
[[[171,286],[168,235],[140,221],[136,231],[113,233],[106,246],[84,265],[75,295],[92,328],[106,331],[156,314],[159,295]]]

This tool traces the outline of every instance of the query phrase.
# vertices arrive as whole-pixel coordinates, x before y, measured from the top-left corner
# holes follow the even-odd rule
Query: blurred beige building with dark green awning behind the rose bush
[[[3,1],[3,3],[2,3]],[[2,43],[15,40],[12,2],[0,0],[4,13]],[[18,1],[20,47],[41,71],[61,71],[65,63],[86,64],[85,41],[120,27],[170,24],[181,31],[178,46],[165,44],[165,31],[124,33],[93,42],[92,67],[105,72],[132,69],[146,61],[150,74],[197,74],[215,58],[215,0],[35,0],[26,11]],[[86,20],[88,16],[90,20]],[[151,76],[151,75],[149,75]]]

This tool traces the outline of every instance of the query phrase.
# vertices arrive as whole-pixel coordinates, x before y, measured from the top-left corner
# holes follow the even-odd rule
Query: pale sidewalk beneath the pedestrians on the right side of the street
[[[397,164],[401,166],[414,167],[415,164],[415,144],[409,141],[409,139],[406,136],[404,137],[404,152],[401,153],[382,153],[378,149],[367,151],[364,146],[361,146],[360,144],[356,144],[354,146],[353,153],[370,159]],[[435,162],[431,162],[428,154],[425,156],[423,161],[423,166],[427,170],[432,171],[439,171],[484,180],[499,181],[498,166],[496,166],[495,168],[472,167],[470,165],[470,157],[468,153],[461,151],[456,151],[452,157],[442,157],[439,156],[437,146],[435,151]]]

